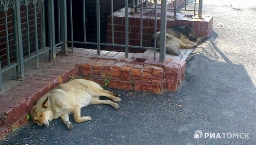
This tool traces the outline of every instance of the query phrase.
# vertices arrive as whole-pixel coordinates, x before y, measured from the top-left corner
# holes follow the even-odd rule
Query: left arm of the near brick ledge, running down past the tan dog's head
[[[54,63],[19,84],[0,93],[0,139],[26,123],[35,102],[52,88],[76,76],[76,65]]]

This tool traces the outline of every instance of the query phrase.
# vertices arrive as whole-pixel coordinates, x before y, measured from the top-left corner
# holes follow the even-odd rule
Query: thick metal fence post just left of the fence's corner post
[[[56,58],[56,50],[55,50],[55,26],[54,26],[54,3],[53,0],[47,0],[48,2],[48,37],[49,37],[49,55],[50,60],[54,60]]]

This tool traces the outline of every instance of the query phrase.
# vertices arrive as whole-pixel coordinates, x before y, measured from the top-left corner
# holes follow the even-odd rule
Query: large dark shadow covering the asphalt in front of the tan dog
[[[214,35],[213,35],[214,36]],[[217,34],[216,34],[217,37]],[[215,37],[215,38],[216,38]],[[90,105],[81,114],[89,122],[68,131],[61,119],[48,128],[32,121],[0,144],[169,145],[251,144],[256,142],[255,87],[241,64],[232,64],[213,43],[187,62],[186,76],[176,92],[154,94],[109,89],[121,109]],[[219,61],[220,56],[224,61]],[[194,139],[194,133],[249,133],[249,139]]]

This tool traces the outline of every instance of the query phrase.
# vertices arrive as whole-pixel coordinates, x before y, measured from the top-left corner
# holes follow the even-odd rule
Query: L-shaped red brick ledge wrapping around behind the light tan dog
[[[58,56],[46,68],[0,92],[0,139],[25,124],[33,104],[52,88],[69,81],[69,76],[81,76],[102,86],[107,79],[109,87],[154,93],[176,90],[184,77],[185,61],[166,58],[160,62],[146,53],[129,53],[129,58],[123,58],[123,52],[101,51],[101,56],[95,52],[76,48],[74,53]]]

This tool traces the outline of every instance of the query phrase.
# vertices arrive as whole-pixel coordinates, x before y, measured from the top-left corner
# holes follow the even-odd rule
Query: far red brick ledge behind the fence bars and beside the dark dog
[[[178,0],[177,6],[181,5],[184,0]],[[174,8],[174,3],[170,3],[168,8]],[[123,9],[121,10],[123,11]],[[147,13],[147,12],[146,12]],[[143,14],[143,42],[142,46],[151,46],[151,37],[154,35],[154,16],[148,13]],[[129,45],[140,46],[140,14],[138,15],[129,15]],[[111,35],[111,16],[108,16],[107,20],[107,35],[106,35],[106,42],[111,44],[112,43],[112,35]],[[212,31],[212,17],[208,16],[206,19],[196,19],[191,17],[177,17],[174,18],[172,15],[167,15],[167,28],[177,25],[189,25],[192,23],[192,26],[195,29],[196,36],[201,37],[204,35],[209,35]],[[157,31],[160,30],[160,15],[159,19],[157,19]],[[114,15],[114,44],[125,44],[125,16],[124,12],[119,12],[118,14]],[[108,50],[114,51],[125,51],[124,47],[107,47]],[[144,52],[145,49],[134,49],[129,48],[129,52]]]

